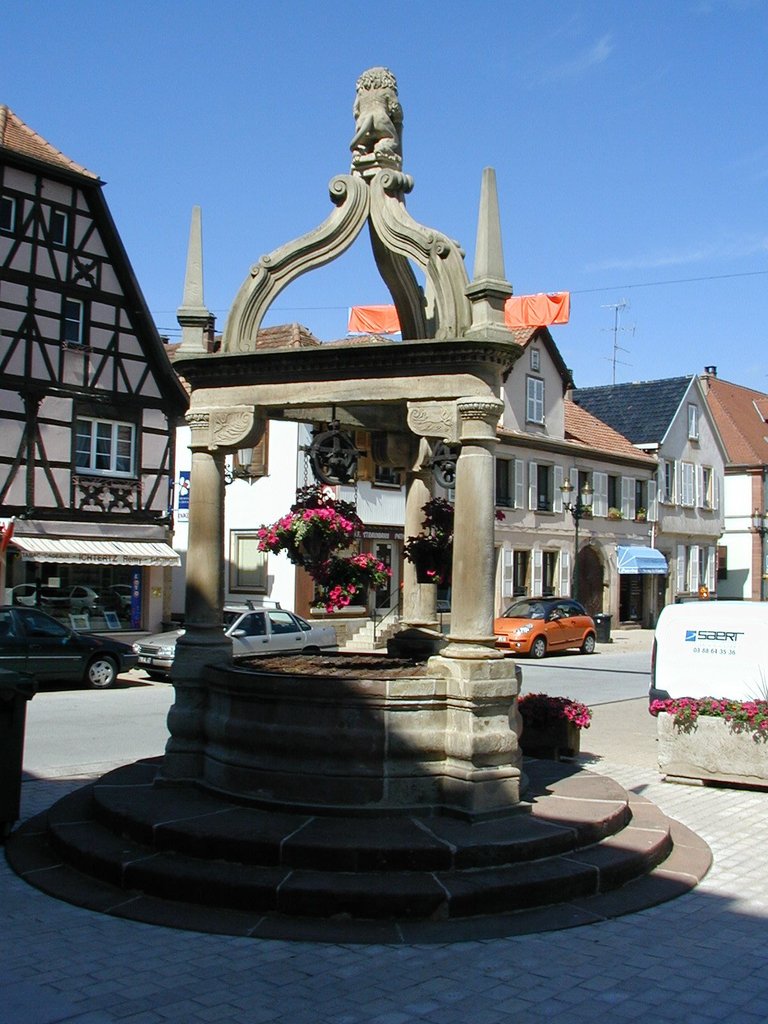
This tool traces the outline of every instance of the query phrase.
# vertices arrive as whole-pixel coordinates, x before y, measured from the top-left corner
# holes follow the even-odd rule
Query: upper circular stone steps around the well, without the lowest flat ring
[[[487,821],[334,817],[154,786],[139,762],[63,798],[47,843],[132,899],[326,919],[435,921],[588,899],[663,863],[670,821],[610,779],[529,766],[535,797]]]

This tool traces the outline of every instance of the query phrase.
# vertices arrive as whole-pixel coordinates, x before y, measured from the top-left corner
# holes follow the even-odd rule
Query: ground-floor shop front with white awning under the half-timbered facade
[[[167,571],[179,565],[163,526],[14,523],[4,601],[41,607],[73,629],[159,629]]]

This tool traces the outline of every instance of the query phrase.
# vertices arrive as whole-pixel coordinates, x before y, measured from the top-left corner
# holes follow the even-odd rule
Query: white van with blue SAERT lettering
[[[668,604],[656,623],[651,700],[768,700],[768,603]]]

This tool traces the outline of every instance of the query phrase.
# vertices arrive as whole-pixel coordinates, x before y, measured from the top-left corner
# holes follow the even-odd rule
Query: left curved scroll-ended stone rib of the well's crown
[[[325,266],[359,234],[369,211],[365,181],[350,174],[333,178],[329,191],[336,209],[301,238],[274,249],[253,267],[238,292],[221,341],[224,352],[253,352],[264,313],[284,288],[303,273]]]

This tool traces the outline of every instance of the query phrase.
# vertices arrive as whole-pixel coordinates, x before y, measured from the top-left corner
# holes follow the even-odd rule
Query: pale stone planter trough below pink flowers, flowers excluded
[[[664,713],[656,729],[658,767],[668,778],[768,788],[768,737],[754,729],[733,729],[725,719],[700,716],[686,730]]]

